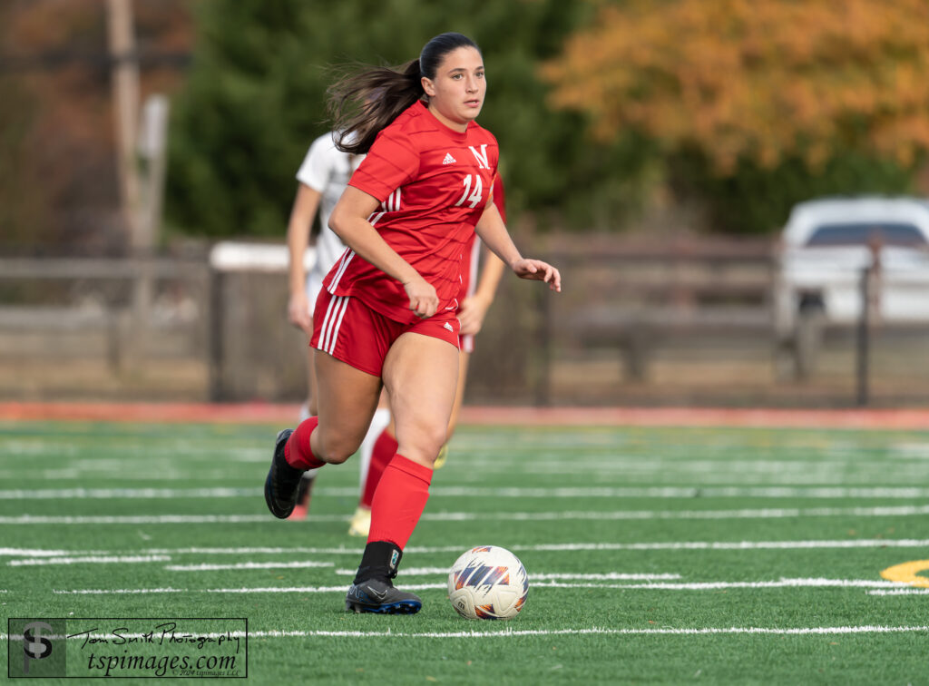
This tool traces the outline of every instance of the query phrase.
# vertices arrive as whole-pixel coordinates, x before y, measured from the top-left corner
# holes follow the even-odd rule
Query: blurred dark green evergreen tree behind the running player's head
[[[488,65],[479,121],[500,141],[511,214],[555,209],[586,223],[583,198],[635,173],[642,158],[628,141],[592,149],[581,115],[545,105],[537,65],[592,10],[556,0],[204,3],[189,82],[174,108],[169,220],[193,234],[281,237],[296,169],[328,128],[329,68],[399,64],[432,36],[458,31],[478,42]]]

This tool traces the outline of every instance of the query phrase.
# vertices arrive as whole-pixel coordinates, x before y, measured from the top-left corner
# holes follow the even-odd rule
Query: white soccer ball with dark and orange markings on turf
[[[513,619],[528,594],[526,568],[504,547],[472,547],[451,565],[449,600],[465,619]]]

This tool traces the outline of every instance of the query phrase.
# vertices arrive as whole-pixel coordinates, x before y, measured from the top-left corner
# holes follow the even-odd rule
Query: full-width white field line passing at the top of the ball
[[[483,542],[478,541],[478,544]],[[475,542],[460,546],[410,546],[407,553],[460,553]],[[511,545],[514,551],[569,552],[572,550],[817,550],[828,548],[871,548],[871,547],[929,547],[927,538],[863,538],[851,540],[812,541],[680,541],[654,543],[544,543],[533,546]],[[0,557],[47,558],[62,556],[92,556],[116,554],[142,555],[351,555],[359,556],[361,547],[175,547],[146,548],[137,551],[114,552],[111,550],[60,550],[28,547],[0,547]]]

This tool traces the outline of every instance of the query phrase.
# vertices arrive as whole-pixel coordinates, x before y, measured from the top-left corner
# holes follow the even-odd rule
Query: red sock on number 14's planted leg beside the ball
[[[401,550],[406,547],[429,499],[431,481],[432,469],[394,455],[374,494],[368,543],[388,541]]]

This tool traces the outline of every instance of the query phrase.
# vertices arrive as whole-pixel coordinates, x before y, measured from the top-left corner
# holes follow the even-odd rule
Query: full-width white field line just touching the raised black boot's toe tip
[[[792,517],[908,517],[929,514],[929,505],[879,508],[762,508],[722,510],[612,510],[567,512],[435,512],[421,521],[628,521],[628,520],[747,520]],[[348,521],[347,515],[309,515],[307,521]],[[260,515],[18,515],[0,517],[0,524],[229,524],[271,521]]]

